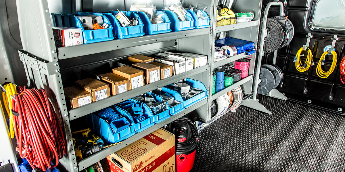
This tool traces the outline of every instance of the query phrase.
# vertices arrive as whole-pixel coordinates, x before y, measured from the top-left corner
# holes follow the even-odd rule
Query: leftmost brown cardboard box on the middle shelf
[[[92,102],[91,94],[77,86],[63,88],[67,107],[76,108]]]

